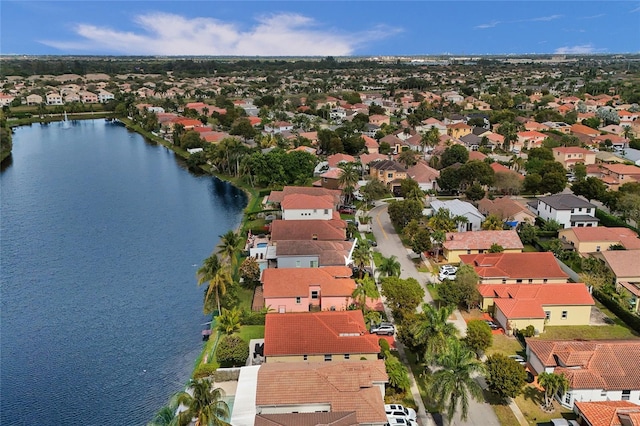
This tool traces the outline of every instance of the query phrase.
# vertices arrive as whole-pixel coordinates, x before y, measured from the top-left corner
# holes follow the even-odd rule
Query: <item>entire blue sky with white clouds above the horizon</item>
[[[640,1],[11,1],[0,54],[640,53]]]

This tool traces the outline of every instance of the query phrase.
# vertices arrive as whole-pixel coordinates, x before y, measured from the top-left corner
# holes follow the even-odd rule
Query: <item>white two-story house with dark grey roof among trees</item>
[[[555,194],[527,203],[544,220],[555,220],[563,228],[598,226],[596,206],[573,194]]]

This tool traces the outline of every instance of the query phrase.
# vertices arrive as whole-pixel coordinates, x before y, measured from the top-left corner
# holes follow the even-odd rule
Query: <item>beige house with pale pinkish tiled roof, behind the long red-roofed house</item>
[[[487,253],[493,244],[505,253],[521,253],[524,248],[516,231],[448,232],[442,252],[447,263],[460,263],[460,255]]]

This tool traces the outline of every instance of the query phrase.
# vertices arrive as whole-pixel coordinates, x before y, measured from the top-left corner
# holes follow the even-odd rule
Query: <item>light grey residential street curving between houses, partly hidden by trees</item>
[[[369,216],[372,218],[371,228],[373,235],[376,237],[378,247],[376,248],[384,257],[396,256],[401,266],[400,278],[415,278],[425,289],[424,302],[433,303],[431,294],[427,291],[427,283],[438,283],[438,278],[430,273],[418,272],[411,255],[413,251],[407,250],[400,241],[400,237],[396,234],[387,214],[387,205],[382,204],[374,207]],[[467,324],[462,315],[456,310],[450,322],[455,323],[462,336],[466,335]],[[420,404],[421,406],[422,404]],[[442,424],[439,416],[436,417],[436,423]],[[469,416],[466,421],[459,418],[454,419],[450,425],[456,426],[500,426],[500,422],[496,417],[493,408],[489,404],[477,402],[473,398],[469,400]]]

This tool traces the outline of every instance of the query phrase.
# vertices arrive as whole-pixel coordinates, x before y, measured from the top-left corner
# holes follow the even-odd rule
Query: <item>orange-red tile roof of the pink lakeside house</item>
[[[268,268],[262,272],[265,299],[273,297],[308,297],[310,286],[320,286],[320,297],[351,298],[356,288],[351,268]],[[336,275],[338,274],[338,275]],[[346,278],[345,278],[346,277]]]

